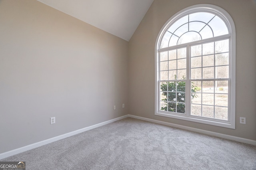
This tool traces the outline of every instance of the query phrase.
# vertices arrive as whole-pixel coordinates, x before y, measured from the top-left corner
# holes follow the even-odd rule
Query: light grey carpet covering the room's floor
[[[26,161],[26,170],[256,170],[256,146],[126,118],[0,161]]]

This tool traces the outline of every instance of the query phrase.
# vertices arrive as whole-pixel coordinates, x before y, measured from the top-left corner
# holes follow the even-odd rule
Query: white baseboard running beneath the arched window
[[[128,115],[128,117],[132,117],[132,118],[135,118],[135,119],[140,119],[140,120],[143,120],[143,121],[158,123],[158,124],[166,125],[166,126],[170,126],[170,127],[176,127],[176,128],[181,128],[181,129],[185,129],[185,130],[190,130],[190,131],[198,132],[198,133],[202,133],[202,134],[208,134],[208,135],[211,135],[211,136],[216,136],[216,137],[224,138],[224,139],[228,139],[228,140],[234,140],[234,141],[242,142],[242,143],[246,143],[246,144],[256,145],[256,140],[240,138],[240,137],[236,137],[236,136],[231,136],[231,135],[217,133],[217,132],[211,132],[211,131],[208,131],[208,130],[202,130],[202,129],[198,129],[198,128],[186,127],[186,126],[183,126],[183,125],[177,125],[177,124],[174,124],[174,123],[157,121],[157,120],[154,120],[154,119],[148,119],[148,118],[145,118],[145,117],[139,117],[139,116],[134,116],[134,115]]]

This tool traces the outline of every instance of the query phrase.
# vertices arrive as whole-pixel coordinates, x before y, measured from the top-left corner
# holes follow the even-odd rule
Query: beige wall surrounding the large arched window
[[[154,48],[165,22],[195,4],[226,10],[236,26],[236,129],[154,115]],[[253,0],[154,0],[129,42],[129,113],[256,140],[256,4]],[[239,123],[246,117],[246,125]]]

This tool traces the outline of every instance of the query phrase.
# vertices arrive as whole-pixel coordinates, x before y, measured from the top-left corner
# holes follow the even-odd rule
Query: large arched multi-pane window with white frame
[[[155,115],[235,128],[235,36],[218,6],[172,16],[156,40]]]

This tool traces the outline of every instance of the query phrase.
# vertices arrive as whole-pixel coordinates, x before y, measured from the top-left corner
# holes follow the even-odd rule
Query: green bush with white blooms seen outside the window
[[[174,79],[176,78],[177,77],[175,75]],[[182,77],[182,79],[186,79],[186,77]],[[166,107],[161,107],[161,110],[176,113],[185,113],[185,87],[185,81],[172,81],[162,83],[160,85],[161,91],[163,91],[162,95],[164,96],[164,99],[162,99],[162,101],[165,101],[166,104],[168,104]],[[194,86],[193,84],[191,85],[191,92],[196,92],[200,89],[200,87]],[[194,99],[194,97],[197,97],[196,93],[192,93],[191,97],[192,99]]]

